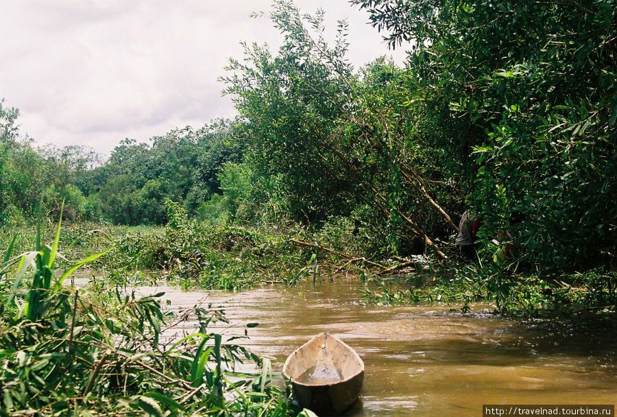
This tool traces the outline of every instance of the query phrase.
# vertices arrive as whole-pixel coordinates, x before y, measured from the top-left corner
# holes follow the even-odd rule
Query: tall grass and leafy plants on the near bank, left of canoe
[[[40,228],[39,228],[40,230]],[[136,298],[118,287],[63,285],[93,254],[56,277],[60,223],[51,246],[13,257],[0,269],[0,416],[294,416],[271,386],[271,367],[210,332],[219,315],[198,310],[199,331],[161,343],[174,318],[160,296]],[[234,373],[239,362],[262,366]],[[304,413],[306,415],[306,413]]]

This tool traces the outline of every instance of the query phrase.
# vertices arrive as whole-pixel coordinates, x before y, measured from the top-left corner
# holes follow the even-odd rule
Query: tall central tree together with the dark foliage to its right
[[[393,45],[415,40],[406,69],[354,74],[343,24],[328,47],[322,16],[278,1],[278,55],[247,46],[225,79],[254,175],[280,178],[291,217],[352,215],[409,253],[448,241],[466,200],[489,251],[518,210],[530,266],[614,257],[614,2],[355,3]]]

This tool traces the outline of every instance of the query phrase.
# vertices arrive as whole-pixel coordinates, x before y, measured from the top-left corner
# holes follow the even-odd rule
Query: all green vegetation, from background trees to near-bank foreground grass
[[[125,139],[105,161],[35,147],[0,101],[0,416],[298,414],[269,362],[208,329],[220,313],[166,339],[176,318],[127,295],[136,280],[351,275],[379,283],[370,302],[614,318],[616,1],[350,3],[391,47],[412,41],[404,67],[352,68],[346,23],[328,43],[323,14],[277,0],[280,49],[245,44],[221,79],[237,119]],[[455,246],[468,209],[474,260]],[[85,263],[104,278],[62,285]]]

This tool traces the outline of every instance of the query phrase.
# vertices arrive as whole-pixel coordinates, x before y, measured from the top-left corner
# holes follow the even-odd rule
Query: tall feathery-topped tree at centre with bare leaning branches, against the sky
[[[232,75],[223,79],[246,120],[256,174],[285,178],[296,219],[354,212],[396,248],[415,242],[420,247],[409,250],[428,245],[445,257],[428,235],[457,229],[440,200],[459,202],[432,160],[460,158],[422,150],[422,119],[409,101],[415,80],[385,60],[354,73],[346,23],[330,46],[322,12],[300,14],[277,1],[271,19],[285,39],[278,55],[245,45],[245,59],[231,60]],[[449,174],[461,171],[457,163]]]

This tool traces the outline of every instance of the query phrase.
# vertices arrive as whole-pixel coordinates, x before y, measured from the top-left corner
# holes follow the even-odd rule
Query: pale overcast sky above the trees
[[[332,32],[349,23],[348,58],[404,60],[387,49],[368,15],[346,0],[297,0],[326,12]],[[147,141],[175,127],[233,117],[221,97],[241,40],[280,45],[271,0],[0,0],[0,98],[20,110],[36,143],[84,144],[108,155],[121,139]],[[253,19],[252,12],[265,12]]]

